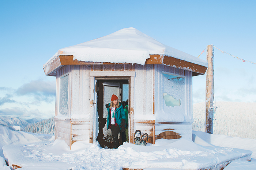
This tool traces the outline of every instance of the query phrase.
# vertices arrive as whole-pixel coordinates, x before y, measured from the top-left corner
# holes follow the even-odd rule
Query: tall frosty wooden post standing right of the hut
[[[213,134],[213,88],[214,88],[214,78],[213,78],[213,46],[207,46],[207,75],[206,75],[206,133]]]

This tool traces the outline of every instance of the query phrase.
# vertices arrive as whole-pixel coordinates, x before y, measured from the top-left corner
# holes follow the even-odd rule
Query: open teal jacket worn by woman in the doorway
[[[110,113],[110,103],[106,104],[106,108],[108,110],[108,119],[107,119],[107,124],[108,124],[108,129],[110,129],[110,122],[111,122],[111,113]],[[116,112],[115,112],[115,118],[116,118],[116,123],[119,125],[120,129],[121,129],[121,121],[122,119],[125,120],[125,112],[124,112],[124,108],[122,106],[122,104],[119,103],[119,108],[116,108]]]

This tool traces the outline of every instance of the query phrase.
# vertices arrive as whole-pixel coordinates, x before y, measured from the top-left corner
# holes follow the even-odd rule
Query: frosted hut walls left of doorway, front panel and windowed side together
[[[70,146],[75,141],[89,141],[90,134],[90,65],[68,65],[57,71],[55,138],[65,140]],[[68,115],[58,119],[59,80],[69,75]]]

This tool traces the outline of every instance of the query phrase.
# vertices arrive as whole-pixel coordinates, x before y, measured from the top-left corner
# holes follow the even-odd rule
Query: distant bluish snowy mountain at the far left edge
[[[15,130],[18,128],[18,126],[22,127],[20,129],[24,129],[27,125],[29,125],[29,123],[19,117],[0,116],[0,125],[7,126],[11,130]]]

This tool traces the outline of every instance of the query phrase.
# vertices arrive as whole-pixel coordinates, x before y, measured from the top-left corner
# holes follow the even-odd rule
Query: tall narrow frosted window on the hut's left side
[[[60,114],[68,115],[68,75],[60,78]]]

